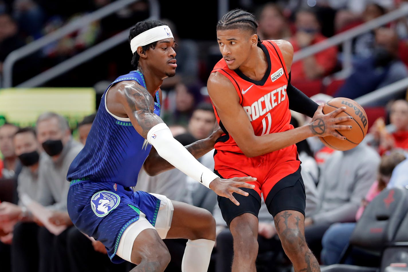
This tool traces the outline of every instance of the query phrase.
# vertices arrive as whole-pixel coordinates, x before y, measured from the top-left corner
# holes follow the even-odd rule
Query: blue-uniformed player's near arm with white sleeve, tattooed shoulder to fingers
[[[235,177],[221,179],[213,171],[198,162],[186,148],[173,138],[170,129],[164,124],[162,119],[154,113],[153,96],[142,86],[135,82],[124,82],[115,86],[118,98],[113,99],[113,105],[108,105],[110,109],[116,105],[114,113],[125,111],[123,115],[130,118],[133,127],[145,139],[155,147],[157,153],[166,161],[171,163],[187,176],[202,183],[213,190],[217,195],[229,198],[235,205],[239,202],[233,193],[248,196],[247,192],[239,187],[253,189],[255,185],[247,183],[256,181],[253,177]],[[108,92],[109,94],[109,92]],[[106,98],[108,103],[109,96]],[[112,101],[111,101],[112,102]]]

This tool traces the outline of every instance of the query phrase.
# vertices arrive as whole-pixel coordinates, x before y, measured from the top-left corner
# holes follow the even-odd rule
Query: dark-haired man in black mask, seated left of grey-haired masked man
[[[18,129],[13,136],[15,153],[22,164],[18,175],[18,196],[27,194],[38,201],[38,167],[40,161],[40,145],[35,129],[25,127]],[[7,234],[11,242],[11,271],[26,272],[38,268],[38,225],[27,207],[18,201],[18,205],[9,202],[0,204],[0,225],[9,226]],[[13,227],[14,226],[14,227]],[[24,261],[21,261],[24,260]]]

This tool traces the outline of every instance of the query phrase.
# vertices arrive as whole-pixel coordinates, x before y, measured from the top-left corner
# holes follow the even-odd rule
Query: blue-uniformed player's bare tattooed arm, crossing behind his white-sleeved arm
[[[213,132],[213,134],[208,136],[208,138],[198,140],[190,145],[186,145],[186,149],[195,158],[200,158],[214,148],[215,140],[217,140],[222,133],[223,132],[221,129],[217,129],[215,132]],[[173,169],[174,166],[164,158],[160,157],[156,149],[152,147],[149,156],[146,158],[146,161],[144,161],[143,168],[149,176],[155,176],[161,172]]]

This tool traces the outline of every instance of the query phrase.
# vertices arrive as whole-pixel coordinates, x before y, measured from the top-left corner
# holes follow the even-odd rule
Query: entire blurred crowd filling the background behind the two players
[[[2,62],[11,51],[110,2],[113,1],[0,0],[0,72]],[[289,40],[296,52],[408,5],[408,1],[277,0],[237,1],[231,3],[231,8],[233,5],[255,12],[261,39]],[[148,1],[139,1],[83,27],[18,62],[13,83],[19,84],[34,72],[67,60],[148,16]],[[183,145],[189,145],[210,136],[217,127],[206,93],[206,79],[221,56],[214,35],[197,40],[188,35],[185,30],[188,26],[180,24],[180,18],[162,20],[171,27],[179,45],[176,49],[177,76],[167,78],[162,85],[162,118],[173,136]],[[213,28],[215,33],[215,21],[206,27]],[[355,99],[406,78],[408,18],[355,37],[352,53],[352,67],[347,71],[342,67],[345,56],[341,45],[295,62],[292,84],[315,102],[325,103],[339,96]],[[131,51],[125,43],[47,82],[46,86],[95,87],[97,94],[101,94],[112,80],[132,69],[130,60]],[[339,262],[351,232],[370,201],[387,188],[408,186],[406,92],[388,96],[366,109],[368,134],[353,149],[336,151],[326,147],[317,137],[297,143],[306,190],[305,238],[322,265]],[[125,272],[134,266],[126,262],[111,263],[102,243],[76,229],[67,213],[68,167],[85,144],[94,118],[95,114],[86,116],[72,128],[64,116],[44,112],[38,116],[35,127],[19,127],[13,123],[0,127],[2,272]],[[292,112],[294,127],[309,121],[308,117]],[[211,170],[213,152],[199,159]],[[178,169],[157,176],[149,176],[142,170],[133,190],[164,194],[172,200],[212,212],[217,221],[217,241],[208,271],[230,269],[232,235],[213,191]],[[31,212],[33,203],[44,209],[44,216]],[[290,271],[290,261],[276,233],[273,218],[262,203],[257,258],[260,272]],[[165,243],[172,256],[166,271],[180,271],[186,241],[165,239]],[[370,254],[353,254],[347,263],[378,265]]]

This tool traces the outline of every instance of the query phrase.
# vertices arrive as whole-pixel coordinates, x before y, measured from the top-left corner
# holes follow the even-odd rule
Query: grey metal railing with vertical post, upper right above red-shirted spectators
[[[361,24],[357,27],[354,27],[350,30],[339,33],[333,37],[327,38],[322,42],[318,42],[315,45],[311,45],[295,52],[293,54],[293,62],[299,61],[303,58],[316,54],[320,51],[328,49],[332,46],[343,45],[343,59],[342,59],[342,69],[349,70],[352,66],[352,41],[353,38],[360,36],[370,30],[373,30],[377,27],[381,27],[388,22],[395,21],[401,17],[408,15],[408,6],[403,6],[395,11],[391,11],[383,16],[380,16],[374,20],[370,20],[364,24]]]

